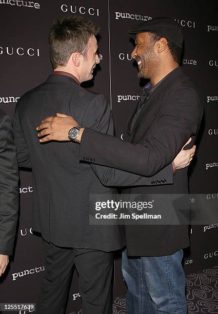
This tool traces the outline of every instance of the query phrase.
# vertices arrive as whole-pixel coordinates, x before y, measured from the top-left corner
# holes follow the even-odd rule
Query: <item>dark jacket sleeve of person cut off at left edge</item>
[[[12,254],[18,204],[18,167],[12,125],[9,116],[0,110],[0,254]]]

